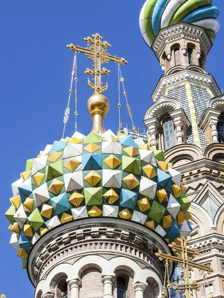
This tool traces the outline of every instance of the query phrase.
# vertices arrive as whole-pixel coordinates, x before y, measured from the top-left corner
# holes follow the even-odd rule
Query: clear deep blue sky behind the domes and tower
[[[224,1],[214,0],[220,8],[221,30],[208,56],[207,72],[224,88]],[[12,196],[10,184],[24,171],[26,159],[36,157],[46,144],[60,140],[67,106],[73,54],[69,43],[86,46],[84,37],[96,32],[112,44],[110,54],[124,57],[122,67],[127,98],[135,126],[143,127],[150,95],[163,74],[153,52],[144,44],[138,17],[144,0],[8,0],[0,3],[0,132],[1,132],[1,208],[0,208],[0,294],[7,298],[31,298],[34,288],[9,243],[9,223],[4,212]],[[86,68],[91,61],[78,55],[78,131],[88,134],[92,121],[86,102],[92,95],[87,85]],[[118,128],[117,65],[110,63],[105,95],[110,111],[106,129]],[[74,93],[73,93],[74,94]],[[121,97],[123,123],[130,124]],[[66,136],[74,132],[74,97]]]

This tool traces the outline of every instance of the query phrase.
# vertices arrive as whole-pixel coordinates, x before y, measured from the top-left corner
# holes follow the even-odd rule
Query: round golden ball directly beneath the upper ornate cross
[[[99,112],[104,117],[109,110],[110,104],[106,96],[101,92],[95,92],[87,101],[87,109],[90,113]]]

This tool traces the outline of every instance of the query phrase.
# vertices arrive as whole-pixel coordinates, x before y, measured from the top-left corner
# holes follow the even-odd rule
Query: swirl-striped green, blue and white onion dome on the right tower
[[[220,29],[218,16],[219,9],[212,5],[212,0],[147,0],[139,23],[143,39],[151,47],[160,29],[179,22],[204,27],[214,41]]]

